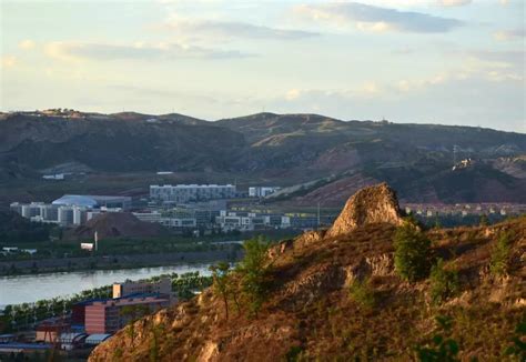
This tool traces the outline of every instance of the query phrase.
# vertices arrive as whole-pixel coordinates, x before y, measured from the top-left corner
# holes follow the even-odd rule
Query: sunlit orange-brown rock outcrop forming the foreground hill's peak
[[[387,183],[365,188],[356,192],[343,208],[326,238],[346,234],[370,223],[402,224],[402,213],[396,193]]]

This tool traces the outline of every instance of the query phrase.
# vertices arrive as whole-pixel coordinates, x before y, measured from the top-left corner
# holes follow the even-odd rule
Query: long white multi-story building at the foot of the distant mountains
[[[150,185],[150,198],[161,202],[186,203],[214,199],[233,199],[233,184],[164,184]]]

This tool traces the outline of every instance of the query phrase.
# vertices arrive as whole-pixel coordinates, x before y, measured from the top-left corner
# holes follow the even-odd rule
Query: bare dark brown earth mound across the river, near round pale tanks
[[[144,222],[128,212],[105,212],[97,215],[68,235],[69,239],[91,239],[95,231],[100,239],[139,238],[163,234],[165,229],[159,224]]]

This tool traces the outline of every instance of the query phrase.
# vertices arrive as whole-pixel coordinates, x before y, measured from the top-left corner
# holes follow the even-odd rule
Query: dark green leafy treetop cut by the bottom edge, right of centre
[[[456,362],[459,361],[458,343],[444,334],[449,334],[452,329],[452,319],[444,315],[436,316],[438,323],[438,332],[433,335],[432,343],[418,344],[416,346],[416,355],[421,362]]]

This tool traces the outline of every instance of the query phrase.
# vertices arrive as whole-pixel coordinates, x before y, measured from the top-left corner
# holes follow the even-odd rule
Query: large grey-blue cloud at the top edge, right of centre
[[[299,17],[335,26],[354,24],[360,30],[439,33],[463,26],[456,19],[415,11],[399,11],[357,2],[303,4],[294,8]]]

